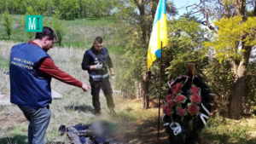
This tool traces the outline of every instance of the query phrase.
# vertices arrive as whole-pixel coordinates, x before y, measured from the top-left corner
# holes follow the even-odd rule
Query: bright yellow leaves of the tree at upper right
[[[242,22],[241,16],[235,16],[230,19],[222,18],[213,22],[218,26],[218,34],[211,42],[204,43],[206,47],[212,47],[215,50],[215,57],[222,60],[241,60],[241,53],[244,49],[238,49],[239,43],[243,42],[246,46],[256,44],[256,18],[249,17],[247,21]],[[247,35],[242,39],[243,35]]]

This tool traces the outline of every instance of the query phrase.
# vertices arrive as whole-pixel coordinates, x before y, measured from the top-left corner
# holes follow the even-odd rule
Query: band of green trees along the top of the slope
[[[4,0],[0,1],[0,13],[26,14],[35,11],[40,15],[53,16],[61,12],[61,19],[74,20],[88,15],[102,18],[113,15],[117,0]]]

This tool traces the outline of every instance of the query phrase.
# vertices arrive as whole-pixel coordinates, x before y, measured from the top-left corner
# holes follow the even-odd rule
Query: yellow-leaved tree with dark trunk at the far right
[[[188,8],[191,7],[197,10],[195,13],[203,14],[201,24],[216,34],[212,42],[206,43],[206,46],[216,51],[215,57],[219,61],[230,61],[235,78],[231,89],[229,117],[238,119],[242,112],[247,64],[256,43],[256,1],[200,0],[200,4]],[[210,19],[216,19],[216,22],[213,22],[215,26],[211,25]]]

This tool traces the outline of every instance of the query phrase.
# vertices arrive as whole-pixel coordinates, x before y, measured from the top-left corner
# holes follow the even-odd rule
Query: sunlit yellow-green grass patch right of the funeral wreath
[[[255,121],[255,118],[251,119]],[[255,132],[251,124],[251,121],[247,121],[245,118],[236,121],[222,116],[211,118],[207,122],[207,127],[202,131],[202,136],[205,141],[211,141],[214,144],[251,144],[256,143],[254,138],[250,137],[250,132]]]

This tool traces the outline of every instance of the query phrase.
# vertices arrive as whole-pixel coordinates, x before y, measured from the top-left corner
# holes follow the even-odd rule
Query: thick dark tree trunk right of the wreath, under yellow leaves
[[[230,99],[230,114],[229,117],[232,119],[239,119],[241,112],[243,112],[242,107],[242,96],[245,90],[245,77],[247,75],[247,63],[249,62],[249,57],[251,54],[252,47],[245,46],[242,43],[242,49],[246,51],[242,54],[242,60],[239,63],[239,66],[236,65],[236,62],[232,62],[233,71],[235,72],[235,83],[233,89],[231,90],[231,99]]]

